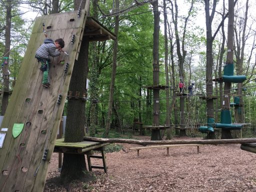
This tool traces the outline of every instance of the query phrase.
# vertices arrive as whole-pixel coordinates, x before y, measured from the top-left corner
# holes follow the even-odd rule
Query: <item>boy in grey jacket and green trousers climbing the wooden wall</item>
[[[65,42],[62,38],[58,38],[54,41],[50,38],[47,38],[35,52],[35,58],[37,58],[38,62],[41,63],[40,70],[43,71],[42,86],[46,88],[50,86],[48,79],[50,59],[49,57],[55,57],[60,55],[60,52],[62,51],[64,45]]]

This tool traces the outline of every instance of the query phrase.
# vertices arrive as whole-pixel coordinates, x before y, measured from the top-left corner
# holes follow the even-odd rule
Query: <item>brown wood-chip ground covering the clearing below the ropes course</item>
[[[144,136],[140,139],[149,139]],[[190,137],[173,139],[194,139]],[[196,138],[201,139],[201,138]],[[256,191],[256,153],[240,149],[240,144],[142,149],[137,157],[130,151],[135,144],[122,144],[123,150],[106,153],[108,173],[93,169],[97,179],[59,184],[58,154],[53,153],[44,191]],[[102,166],[101,159],[92,159]]]

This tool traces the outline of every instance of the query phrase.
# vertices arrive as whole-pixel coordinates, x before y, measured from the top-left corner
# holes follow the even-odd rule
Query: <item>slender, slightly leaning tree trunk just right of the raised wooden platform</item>
[[[119,8],[119,0],[115,0],[115,8],[118,10]],[[118,49],[118,29],[119,29],[119,15],[115,15],[114,18],[114,34],[116,38],[114,40],[113,45],[113,61],[112,61],[112,73],[111,73],[111,83],[109,88],[109,98],[108,98],[108,111],[107,111],[107,118],[106,118],[106,127],[104,129],[103,137],[108,137],[109,128],[110,128],[110,121],[111,121],[111,114],[112,114],[112,103],[113,103],[113,94],[114,94],[114,81],[115,81],[115,73],[116,73],[116,59],[117,59],[117,49]]]

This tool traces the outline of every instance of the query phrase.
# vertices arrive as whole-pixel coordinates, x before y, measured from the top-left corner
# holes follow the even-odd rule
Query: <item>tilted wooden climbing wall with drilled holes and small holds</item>
[[[0,192],[43,191],[74,60],[78,56],[84,31],[88,3],[85,7],[80,16],[74,11],[40,16],[35,20],[0,128],[0,133],[6,134],[0,148]],[[36,49],[45,39],[43,23],[49,38],[64,39],[63,50],[69,54],[62,52],[59,57],[51,58],[49,88],[42,86],[42,71],[34,58]],[[75,41],[72,43],[73,34]],[[67,72],[64,71],[65,63],[69,63]],[[59,95],[62,99],[57,103]],[[12,136],[14,123],[24,123],[16,138]],[[43,160],[45,149],[48,153]]]

